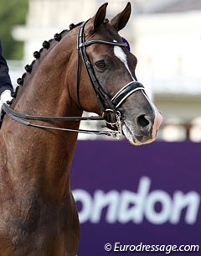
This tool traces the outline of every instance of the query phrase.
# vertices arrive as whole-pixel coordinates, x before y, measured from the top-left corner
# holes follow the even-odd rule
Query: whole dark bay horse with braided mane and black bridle
[[[147,144],[157,136],[162,118],[137,81],[137,58],[118,34],[131,4],[110,21],[106,6],[87,22],[45,41],[18,80],[21,86],[11,107],[4,105],[0,256],[77,253],[80,227],[70,192],[77,133],[69,130],[78,130],[80,119],[33,116],[81,117],[85,110],[104,114],[113,133],[125,135],[131,144]],[[32,116],[35,127],[24,113]]]

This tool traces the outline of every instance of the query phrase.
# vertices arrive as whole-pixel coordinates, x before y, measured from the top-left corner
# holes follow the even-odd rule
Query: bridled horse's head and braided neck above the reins
[[[135,145],[151,143],[157,138],[162,116],[137,81],[137,58],[118,34],[130,18],[131,4],[111,20],[106,19],[106,7],[107,3],[94,17],[56,34],[55,40],[44,41],[44,48],[34,53],[39,61],[26,69],[31,75],[18,81],[24,89],[13,107],[31,114],[45,110],[52,116],[67,117],[80,116],[83,110],[96,112],[105,118],[108,128],[116,130],[107,133],[110,136],[123,134]],[[40,102],[37,106],[36,101]],[[47,121],[38,118],[44,119]],[[78,120],[81,118],[76,118],[76,124],[67,123],[73,127],[71,131],[81,132]]]

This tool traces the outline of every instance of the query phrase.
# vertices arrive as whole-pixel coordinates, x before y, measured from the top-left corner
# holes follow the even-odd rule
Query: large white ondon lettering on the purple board
[[[98,223],[105,220],[108,223],[141,224],[143,220],[147,220],[152,224],[162,225],[166,222],[178,224],[183,217],[188,225],[197,221],[200,205],[198,192],[175,191],[170,196],[167,191],[150,191],[150,187],[151,179],[142,177],[137,192],[97,190],[91,196],[88,191],[73,191],[75,201],[81,204],[80,223]],[[159,210],[156,209],[158,204]]]

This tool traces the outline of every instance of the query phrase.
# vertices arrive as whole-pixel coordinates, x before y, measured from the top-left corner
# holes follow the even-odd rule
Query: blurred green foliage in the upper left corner
[[[0,39],[3,42],[3,55],[8,60],[23,58],[23,42],[13,39],[14,25],[25,24],[28,0],[0,0]]]

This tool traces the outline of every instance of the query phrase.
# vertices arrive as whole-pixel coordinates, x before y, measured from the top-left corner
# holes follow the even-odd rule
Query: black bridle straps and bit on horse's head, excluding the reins
[[[78,65],[77,65],[77,102],[79,103],[80,108],[80,97],[79,97],[79,82],[80,82],[80,55],[82,60],[85,64],[85,69],[87,74],[90,78],[91,86],[95,91],[95,95],[100,102],[101,109],[103,112],[103,116],[106,120],[106,125],[108,128],[116,129],[119,135],[121,135],[121,112],[119,112],[118,107],[121,105],[122,102],[126,100],[133,92],[138,90],[144,90],[144,86],[138,81],[131,81],[126,86],[121,88],[120,91],[116,92],[116,95],[110,98],[106,92],[104,91],[103,87],[100,85],[97,77],[95,76],[95,71],[93,65],[90,62],[90,59],[86,53],[86,47],[91,44],[106,44],[106,45],[114,45],[120,47],[126,47],[125,43],[118,43],[118,42],[111,42],[105,41],[101,39],[90,39],[85,41],[85,24],[88,21],[85,21],[83,24],[80,25],[78,39],[77,39],[77,50],[78,50]],[[111,123],[111,115],[115,115],[116,121]]]

